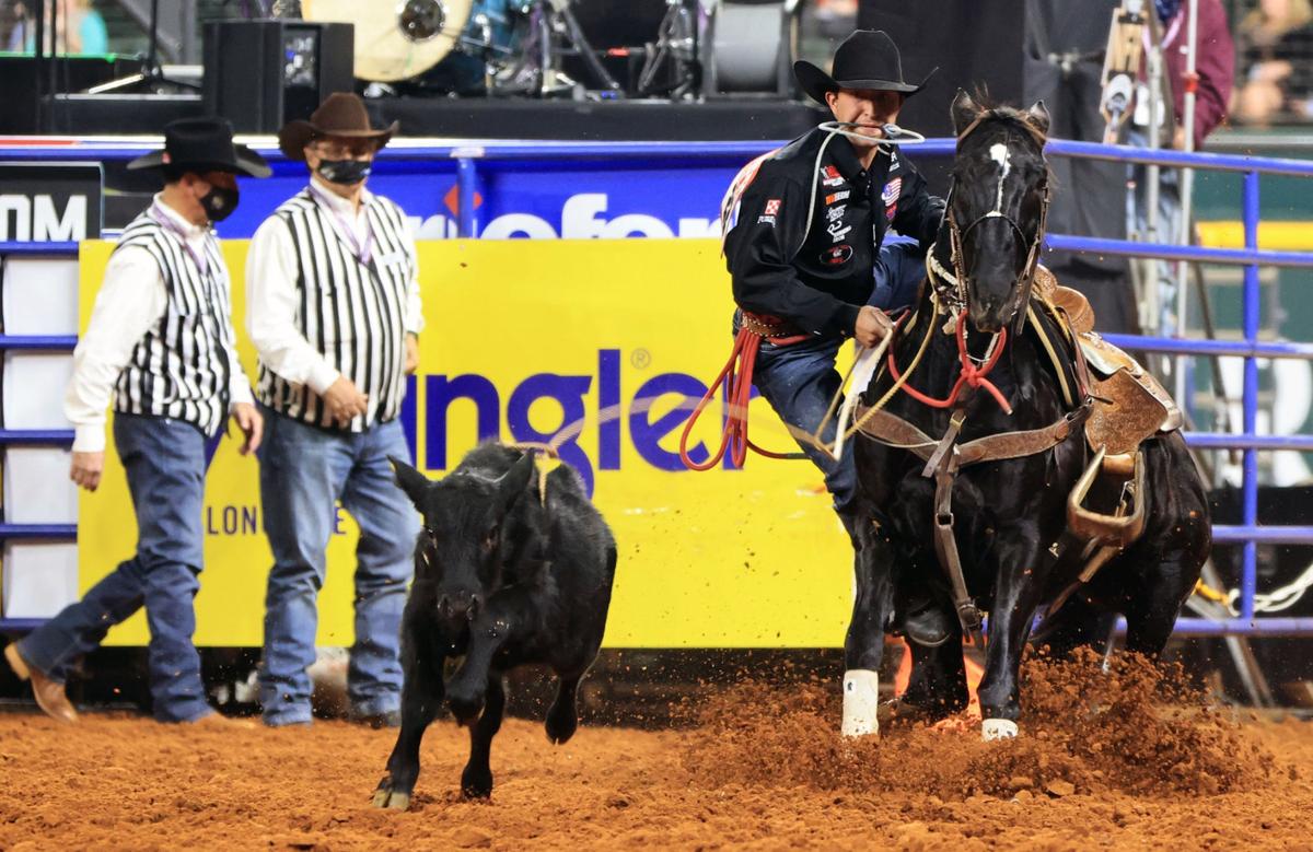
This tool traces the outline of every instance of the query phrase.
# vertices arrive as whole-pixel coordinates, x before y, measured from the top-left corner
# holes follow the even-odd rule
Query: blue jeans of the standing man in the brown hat
[[[268,725],[310,721],[310,676],[326,549],[335,503],[360,526],[356,545],[356,645],[347,671],[357,717],[400,708],[402,608],[414,571],[419,519],[397,486],[389,456],[408,459],[399,420],[365,432],[319,429],[261,406],[260,501],[273,570],[265,596],[260,704]]]

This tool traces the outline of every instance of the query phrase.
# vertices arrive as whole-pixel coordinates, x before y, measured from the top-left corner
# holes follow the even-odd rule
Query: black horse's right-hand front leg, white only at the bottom
[[[994,600],[989,610],[985,677],[981,680],[981,734],[985,739],[1016,736],[1022,714],[1019,671],[1025,639],[1045,576],[1039,526],[1022,522],[995,538]]]

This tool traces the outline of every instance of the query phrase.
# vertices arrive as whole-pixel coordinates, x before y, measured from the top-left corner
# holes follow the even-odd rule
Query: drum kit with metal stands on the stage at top
[[[301,0],[299,16],[355,25],[355,74],[406,91],[437,81],[448,95],[624,97],[622,87],[588,43],[574,0]],[[731,0],[666,0],[656,39],[629,95],[689,100],[701,95],[704,66],[717,77],[714,49],[721,7]],[[733,9],[726,9],[733,12]],[[754,22],[754,29],[756,28]],[[721,28],[723,32],[725,28]],[[769,29],[767,30],[769,32]],[[742,38],[739,38],[742,41]],[[760,55],[760,45],[750,51]],[[788,47],[781,47],[788,50]],[[608,51],[616,55],[616,50]],[[773,49],[772,49],[773,54]],[[587,85],[569,77],[562,59],[582,60]],[[781,54],[781,62],[789,56]],[[771,87],[773,88],[773,79]]]

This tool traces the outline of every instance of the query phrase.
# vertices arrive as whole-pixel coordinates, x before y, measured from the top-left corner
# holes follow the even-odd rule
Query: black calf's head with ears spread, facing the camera
[[[457,469],[433,482],[393,459],[397,482],[424,517],[415,579],[436,586],[436,617],[450,638],[469,629],[502,587],[515,508],[534,474],[524,456],[506,474]]]

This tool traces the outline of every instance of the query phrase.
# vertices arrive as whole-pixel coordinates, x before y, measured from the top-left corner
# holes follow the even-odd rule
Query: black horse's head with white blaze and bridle
[[[1024,315],[1044,218],[1049,168],[1044,159],[1049,112],[1044,101],[1020,112],[953,98],[957,158],[948,223],[953,265],[972,324],[997,332]]]

